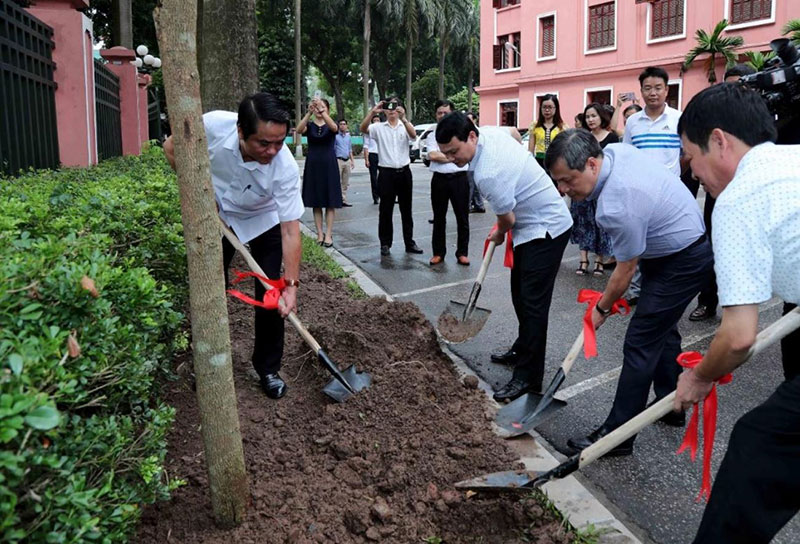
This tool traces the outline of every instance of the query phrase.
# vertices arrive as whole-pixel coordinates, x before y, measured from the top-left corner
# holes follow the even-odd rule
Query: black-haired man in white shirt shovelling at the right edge
[[[678,381],[675,407],[705,399],[741,365],[758,305],[800,303],[800,146],[775,145],[761,97],[738,84],[705,89],[680,123],[694,175],[717,199],[714,256],[722,323],[702,362]],[[782,344],[785,381],[736,423],[695,543],[769,542],[800,509],[800,333]]]

